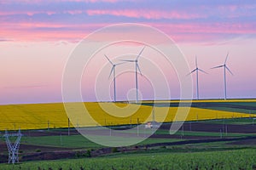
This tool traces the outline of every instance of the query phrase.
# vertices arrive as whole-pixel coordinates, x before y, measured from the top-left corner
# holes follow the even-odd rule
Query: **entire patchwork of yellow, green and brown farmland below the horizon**
[[[70,105],[74,116],[83,116],[76,105]],[[180,108],[177,101],[83,105],[96,122],[78,119],[73,125],[86,127],[88,135],[117,142],[150,137],[111,148],[84,138],[72,124],[68,131],[63,104],[0,105],[0,135],[18,128],[23,134],[16,165],[5,163],[8,150],[0,138],[0,169],[256,169],[255,100],[198,100],[191,108],[187,101]],[[178,109],[188,116],[177,115]],[[171,135],[174,120],[185,122]],[[148,121],[163,124],[156,132],[137,127]],[[98,125],[109,127],[107,133]]]

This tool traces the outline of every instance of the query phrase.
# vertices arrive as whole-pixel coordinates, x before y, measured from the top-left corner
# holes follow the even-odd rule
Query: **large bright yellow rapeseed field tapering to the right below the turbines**
[[[110,126],[121,124],[137,124],[152,121],[196,121],[222,118],[251,117],[229,111],[213,111],[200,108],[155,107],[147,105],[133,105],[125,103],[84,103],[89,114],[79,111],[77,103],[68,105],[68,116],[64,105],[30,104],[30,105],[0,105],[0,130],[40,129],[67,127],[70,117],[74,126]],[[177,114],[177,110],[179,111]],[[189,111],[188,116],[186,112]],[[73,127],[71,125],[71,127]]]

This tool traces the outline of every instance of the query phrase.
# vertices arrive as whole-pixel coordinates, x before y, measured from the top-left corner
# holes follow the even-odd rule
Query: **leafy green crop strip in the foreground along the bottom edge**
[[[138,159],[139,158],[139,159]],[[0,169],[256,169],[256,149],[136,154],[0,164]]]

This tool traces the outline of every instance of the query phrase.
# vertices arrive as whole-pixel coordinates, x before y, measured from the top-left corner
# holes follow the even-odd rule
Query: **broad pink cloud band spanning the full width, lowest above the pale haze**
[[[218,39],[231,34],[245,35],[256,34],[256,29],[253,23],[144,23],[149,26],[154,26],[160,31],[166,32],[177,42],[198,42],[207,39]],[[110,25],[109,23],[98,24],[59,24],[46,22],[20,22],[20,23],[1,23],[0,37],[4,39],[13,39],[15,41],[59,41],[67,40],[73,42],[74,40],[85,37],[92,31],[100,29],[103,26]],[[53,29],[48,29],[53,28]],[[115,32],[115,34],[122,34],[122,32]],[[143,32],[143,34],[145,34]],[[105,38],[111,39],[111,35],[104,35]],[[99,37],[101,40],[102,37]]]

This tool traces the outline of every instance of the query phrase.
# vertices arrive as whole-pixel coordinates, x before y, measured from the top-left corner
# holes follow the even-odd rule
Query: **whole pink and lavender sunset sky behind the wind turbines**
[[[197,56],[199,67],[208,73],[200,74],[201,99],[224,97],[223,70],[210,68],[222,65],[228,53],[227,65],[234,73],[234,76],[227,74],[228,98],[256,98],[254,1],[0,0],[0,105],[61,102],[62,74],[74,48],[90,33],[121,23],[143,24],[164,32],[176,42],[191,71],[195,69]],[[109,32],[102,41],[118,33]],[[112,52],[121,54],[124,47],[124,54],[129,50],[137,54],[143,46],[120,44]],[[109,51],[111,48],[105,52]],[[144,53],[140,66],[150,79],[156,71],[150,72],[150,64],[146,63],[147,57],[153,59],[154,52],[147,47]],[[110,59],[118,59],[117,54],[108,54]],[[103,77],[108,78],[111,65],[103,53],[100,55],[96,57],[95,67],[98,70],[106,67]],[[130,57],[135,56],[124,56]],[[119,100],[134,99],[133,65],[125,68],[131,71],[121,74],[119,69]],[[81,82],[85,101],[97,99],[94,88],[98,89],[98,85],[95,87],[92,83],[96,78],[93,69],[84,71]],[[171,98],[179,99],[180,86],[172,66],[162,72],[170,86]],[[192,78],[195,97],[195,75]],[[150,80],[140,76],[138,82],[141,98],[154,99]],[[98,100],[113,98],[113,81],[104,79],[97,83],[106,84],[104,87],[108,90],[108,94]],[[165,98],[163,94],[162,99]]]

